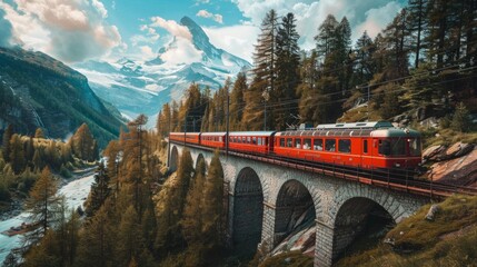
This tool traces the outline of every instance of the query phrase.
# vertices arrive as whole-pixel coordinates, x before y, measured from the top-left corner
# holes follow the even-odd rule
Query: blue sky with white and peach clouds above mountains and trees
[[[405,6],[406,0],[2,0],[0,43],[43,51],[66,62],[89,59],[148,60],[185,34],[179,24],[188,16],[210,41],[251,60],[266,12],[294,12],[300,47],[311,49],[328,13],[351,23],[352,39],[364,30],[374,37]],[[186,29],[187,30],[187,29]],[[186,38],[187,39],[187,38]]]

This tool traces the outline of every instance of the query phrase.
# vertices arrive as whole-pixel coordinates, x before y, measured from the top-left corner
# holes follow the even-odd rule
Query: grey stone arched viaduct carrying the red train
[[[183,145],[171,144],[169,167],[177,168]],[[189,149],[195,165],[212,151]],[[237,156],[220,156],[228,189],[228,238],[232,247],[269,251],[306,209],[315,210],[315,266],[331,266],[366,225],[370,214],[394,222],[413,215],[428,198],[345,179],[285,168]]]

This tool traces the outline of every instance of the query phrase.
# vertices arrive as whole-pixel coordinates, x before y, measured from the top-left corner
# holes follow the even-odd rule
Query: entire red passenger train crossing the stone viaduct
[[[226,148],[226,132],[171,132],[178,142]],[[294,131],[232,131],[229,149],[365,169],[415,169],[420,134],[390,122],[319,125]]]

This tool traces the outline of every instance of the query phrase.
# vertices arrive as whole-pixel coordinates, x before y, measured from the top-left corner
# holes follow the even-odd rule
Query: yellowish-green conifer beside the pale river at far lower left
[[[39,224],[39,228],[29,233],[27,238],[37,243],[47,230],[58,221],[58,210],[61,198],[57,195],[58,185],[50,169],[46,167],[34,184],[27,199],[26,207],[30,209],[30,221]]]

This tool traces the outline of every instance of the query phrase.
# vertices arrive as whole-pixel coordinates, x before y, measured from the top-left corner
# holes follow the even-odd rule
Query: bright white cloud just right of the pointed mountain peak
[[[203,28],[210,42],[228,52],[252,62],[254,43],[260,29],[251,24]]]

